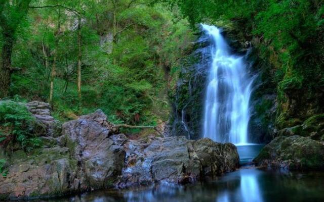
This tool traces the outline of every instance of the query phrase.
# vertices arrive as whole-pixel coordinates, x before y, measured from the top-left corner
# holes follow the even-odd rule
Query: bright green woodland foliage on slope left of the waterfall
[[[167,84],[177,77],[170,71],[194,37],[177,9],[154,2],[32,1],[30,7],[45,8],[29,9],[17,27],[11,61],[21,71],[11,77],[10,95],[48,102],[55,56],[55,118],[66,121],[100,108],[114,123],[166,121]],[[76,84],[78,17],[82,18],[81,98]]]

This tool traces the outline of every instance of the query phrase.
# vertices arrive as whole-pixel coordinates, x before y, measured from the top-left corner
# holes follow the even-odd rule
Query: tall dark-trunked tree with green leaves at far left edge
[[[3,46],[0,62],[0,98],[8,96],[11,83],[11,55],[15,43],[16,30],[28,12],[31,0],[0,0],[0,26]]]

